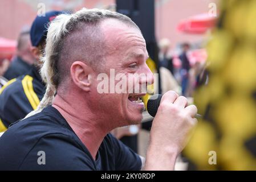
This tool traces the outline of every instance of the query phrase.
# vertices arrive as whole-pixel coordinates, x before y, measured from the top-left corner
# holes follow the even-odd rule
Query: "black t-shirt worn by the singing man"
[[[140,170],[139,155],[108,134],[94,160],[58,110],[48,106],[0,137],[0,170]]]

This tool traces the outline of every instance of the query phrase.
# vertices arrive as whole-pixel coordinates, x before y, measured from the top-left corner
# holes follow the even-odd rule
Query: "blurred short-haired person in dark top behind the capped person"
[[[3,74],[7,80],[24,75],[30,71],[31,65],[35,62],[35,57],[30,51],[30,30],[25,28],[18,37],[17,55],[14,57],[7,71]]]

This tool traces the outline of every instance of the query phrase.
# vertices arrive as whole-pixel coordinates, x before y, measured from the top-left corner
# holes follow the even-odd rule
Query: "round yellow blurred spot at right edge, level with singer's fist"
[[[253,137],[256,133],[255,104],[249,97],[239,95],[226,97],[214,110],[216,123],[221,133],[242,139]]]

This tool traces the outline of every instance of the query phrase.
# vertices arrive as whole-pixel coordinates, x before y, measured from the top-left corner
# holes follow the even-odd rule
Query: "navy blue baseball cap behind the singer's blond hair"
[[[51,22],[57,15],[63,14],[64,11],[48,11],[45,16],[37,15],[30,29],[30,39],[32,46],[38,44],[46,39],[48,23]]]

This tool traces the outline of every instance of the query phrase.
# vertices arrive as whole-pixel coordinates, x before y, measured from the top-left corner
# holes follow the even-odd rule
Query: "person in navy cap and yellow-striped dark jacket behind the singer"
[[[46,16],[36,16],[30,30],[31,54],[36,60],[26,75],[13,78],[0,89],[0,132],[9,125],[24,118],[36,109],[45,92],[45,85],[39,75],[40,57],[46,44],[47,23],[61,11],[50,11]]]

